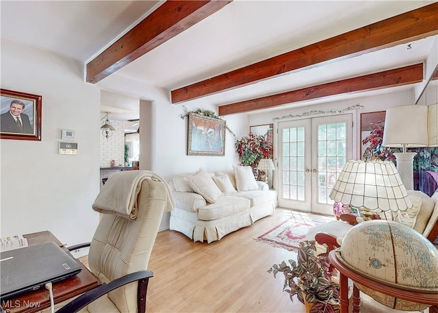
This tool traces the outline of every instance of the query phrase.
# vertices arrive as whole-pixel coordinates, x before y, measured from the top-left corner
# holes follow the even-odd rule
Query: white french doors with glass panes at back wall
[[[352,114],[279,122],[278,142],[279,205],[333,214],[329,195],[352,157]]]

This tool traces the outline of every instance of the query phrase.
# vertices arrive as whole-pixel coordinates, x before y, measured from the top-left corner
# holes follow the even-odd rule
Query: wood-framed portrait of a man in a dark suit
[[[0,139],[41,140],[42,96],[0,89]]]

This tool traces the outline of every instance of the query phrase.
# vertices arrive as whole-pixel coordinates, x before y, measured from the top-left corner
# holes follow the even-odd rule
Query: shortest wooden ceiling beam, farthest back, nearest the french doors
[[[228,114],[267,109],[298,101],[341,95],[348,92],[378,90],[394,86],[415,84],[422,82],[422,80],[423,64],[420,63],[380,73],[283,92],[277,95],[220,105],[219,115],[224,116]]]

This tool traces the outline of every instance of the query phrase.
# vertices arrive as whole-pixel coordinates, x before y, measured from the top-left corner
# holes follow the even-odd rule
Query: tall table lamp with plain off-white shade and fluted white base
[[[413,157],[417,153],[406,149],[428,145],[427,118],[427,105],[403,105],[386,110],[382,145],[403,148],[402,153],[394,155],[398,173],[409,190],[413,190]]]

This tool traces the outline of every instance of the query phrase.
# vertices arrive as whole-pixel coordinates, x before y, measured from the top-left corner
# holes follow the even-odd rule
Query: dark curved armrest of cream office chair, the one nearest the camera
[[[103,283],[101,286],[96,287],[83,295],[77,297],[70,303],[67,303],[64,307],[57,310],[57,313],[75,313],[81,310],[81,308],[86,307],[86,305],[92,303],[92,301],[102,297],[108,292],[119,288],[121,286],[125,286],[133,281],[138,281],[138,312],[146,312],[146,290],[148,287],[149,278],[153,277],[153,273],[151,271],[138,271],[135,273],[131,273],[120,277],[118,279],[114,279],[109,284]]]

